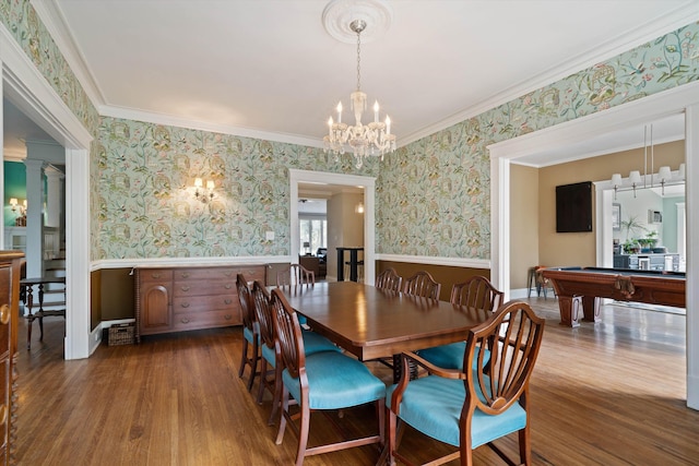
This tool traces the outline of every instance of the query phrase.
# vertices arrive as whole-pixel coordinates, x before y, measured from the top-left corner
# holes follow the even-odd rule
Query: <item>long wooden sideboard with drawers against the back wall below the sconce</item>
[[[135,338],[239,325],[236,275],[265,283],[263,264],[137,267]]]

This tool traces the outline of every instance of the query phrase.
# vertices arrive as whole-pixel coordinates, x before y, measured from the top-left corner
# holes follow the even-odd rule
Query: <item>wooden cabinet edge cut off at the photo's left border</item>
[[[17,362],[17,319],[20,318],[20,275],[24,253],[0,251],[0,422],[2,445],[0,465],[14,463],[16,422],[16,362]]]

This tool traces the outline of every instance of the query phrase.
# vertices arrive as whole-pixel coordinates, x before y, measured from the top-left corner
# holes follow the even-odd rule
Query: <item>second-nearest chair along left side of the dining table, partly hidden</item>
[[[264,285],[259,280],[252,284],[252,300],[254,313],[260,328],[260,339],[262,346],[262,367],[260,368],[260,385],[258,387],[258,404],[262,404],[264,390],[272,394],[272,410],[268,425],[274,423],[274,417],[282,399],[282,368],[283,362],[279,354],[279,345],[274,332],[272,319],[271,296]],[[331,340],[315,332],[301,328],[304,339],[304,350],[306,354],[321,351],[340,351],[340,348]]]

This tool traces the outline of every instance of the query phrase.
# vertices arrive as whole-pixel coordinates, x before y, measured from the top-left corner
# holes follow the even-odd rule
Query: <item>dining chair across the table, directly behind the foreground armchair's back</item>
[[[449,301],[454,306],[464,306],[484,312],[493,312],[502,302],[502,296],[503,292],[493,286],[489,279],[481,275],[475,275],[463,283],[454,284],[451,287],[451,298]],[[463,363],[466,342],[457,342],[420,349],[417,354],[440,368],[460,369]],[[484,349],[487,351],[487,348]]]

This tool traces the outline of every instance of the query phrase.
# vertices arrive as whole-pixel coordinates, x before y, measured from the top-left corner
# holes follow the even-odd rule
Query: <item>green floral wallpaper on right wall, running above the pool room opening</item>
[[[489,144],[699,80],[699,23],[416,141],[377,181],[381,253],[490,258]]]

